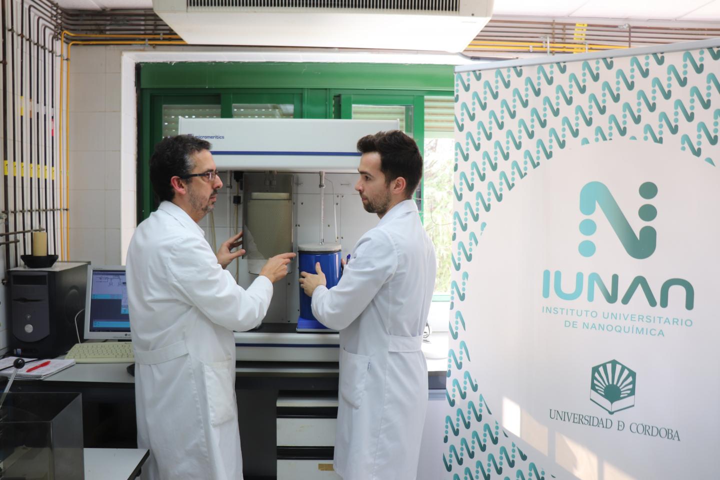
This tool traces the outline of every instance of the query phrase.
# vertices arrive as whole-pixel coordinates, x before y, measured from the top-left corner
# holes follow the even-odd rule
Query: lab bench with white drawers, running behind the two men
[[[426,358],[440,357],[443,352],[446,355],[447,337],[447,332],[433,334],[430,348],[423,345]],[[283,480],[289,478],[289,472],[294,472],[293,478],[338,478],[328,469],[332,464],[331,440],[337,411],[338,334],[261,331],[235,334],[235,339],[240,359],[235,368],[235,394],[246,479]],[[440,429],[442,423],[438,406],[444,400],[447,358],[428,358],[427,361],[431,402],[426,430],[430,435]],[[135,387],[127,365],[80,363],[44,381],[16,381],[13,390],[80,392],[85,447],[136,448]],[[294,402],[296,410],[310,408],[304,411],[310,412],[307,425],[290,418],[298,414],[287,414],[289,401]],[[321,439],[311,443],[323,445],[303,444],[308,440],[302,440],[302,435],[298,437],[298,432],[308,428]],[[441,439],[440,434],[434,436]],[[423,435],[423,450],[425,437]],[[307,469],[314,476],[297,477]]]

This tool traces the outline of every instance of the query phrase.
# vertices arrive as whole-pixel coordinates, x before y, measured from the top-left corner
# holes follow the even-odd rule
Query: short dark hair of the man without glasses
[[[380,170],[389,185],[397,177],[405,179],[405,196],[410,198],[423,177],[423,156],[415,141],[400,130],[366,135],[358,141],[358,151],[380,155]]]

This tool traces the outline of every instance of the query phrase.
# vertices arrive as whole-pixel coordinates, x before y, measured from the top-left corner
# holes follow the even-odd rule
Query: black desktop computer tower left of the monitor
[[[10,275],[9,347],[13,355],[57,357],[83,331],[86,262],[57,262],[49,268],[13,268]],[[76,316],[78,322],[76,330]]]

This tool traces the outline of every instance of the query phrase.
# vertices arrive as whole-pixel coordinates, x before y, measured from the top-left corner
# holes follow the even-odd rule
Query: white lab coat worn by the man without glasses
[[[312,314],[340,332],[334,466],[345,480],[415,479],[436,268],[418,208],[405,200],[358,241],[338,285],[312,293]]]

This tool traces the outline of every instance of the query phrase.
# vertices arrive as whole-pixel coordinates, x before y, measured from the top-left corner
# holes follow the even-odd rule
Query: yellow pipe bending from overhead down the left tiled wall
[[[63,158],[63,126],[65,127],[65,200],[68,205],[66,210],[66,222],[65,229],[67,234],[67,243],[63,249],[63,172],[60,170],[60,254],[66,255],[63,259],[70,259],[70,58],[71,58],[71,47],[73,45],[187,45],[184,40],[75,40],[68,43],[68,55],[65,60],[68,61],[68,80],[66,81],[66,99],[67,105],[65,111],[65,123],[63,125],[63,58],[62,48],[65,45],[65,36],[68,37],[84,37],[84,38],[107,38],[107,37],[132,37],[132,38],[180,38],[179,35],[112,35],[112,34],[96,34],[96,35],[80,35],[67,30],[63,30],[60,37],[60,118],[58,119],[58,138],[59,146],[58,151],[60,152],[60,168],[62,169]]]

